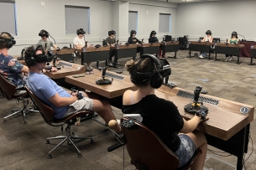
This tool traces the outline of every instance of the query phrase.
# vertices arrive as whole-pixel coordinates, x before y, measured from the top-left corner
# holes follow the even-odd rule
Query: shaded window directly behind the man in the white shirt
[[[65,34],[83,28],[90,34],[90,8],[65,5]]]

